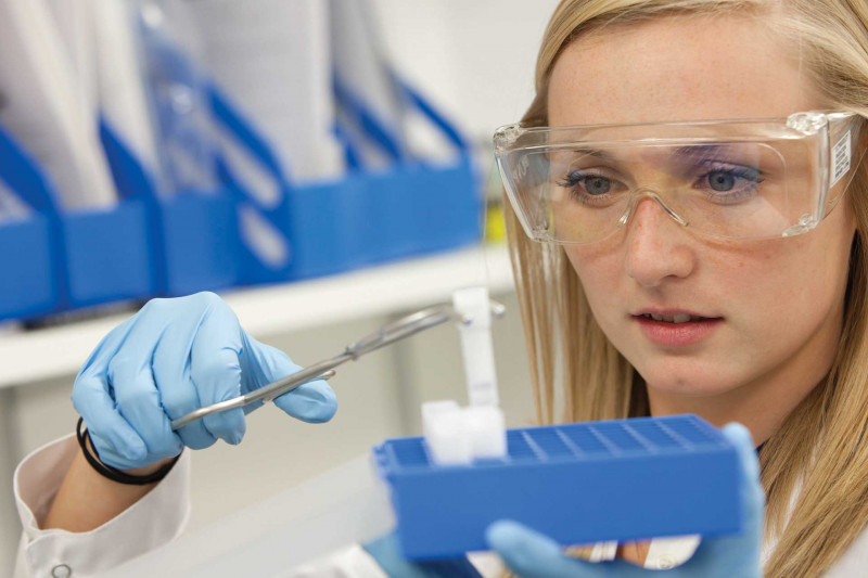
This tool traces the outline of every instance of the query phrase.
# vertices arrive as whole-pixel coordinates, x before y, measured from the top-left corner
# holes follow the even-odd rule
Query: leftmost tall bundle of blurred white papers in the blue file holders
[[[42,164],[56,203],[110,207],[117,195],[99,140],[88,11],[51,5],[56,13],[47,0],[0,2],[0,124]]]

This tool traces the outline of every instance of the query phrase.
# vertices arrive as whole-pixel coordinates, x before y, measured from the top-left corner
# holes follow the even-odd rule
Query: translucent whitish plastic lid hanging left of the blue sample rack
[[[360,455],[105,576],[286,576],[348,543],[373,540],[394,524],[370,459]]]

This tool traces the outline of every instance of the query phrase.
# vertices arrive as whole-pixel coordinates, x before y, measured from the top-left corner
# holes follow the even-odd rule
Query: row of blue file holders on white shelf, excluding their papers
[[[120,196],[107,209],[65,211],[39,164],[0,127],[0,179],[34,209],[0,224],[2,246],[12,247],[0,256],[0,320],[309,279],[477,241],[482,202],[467,142],[421,94],[400,84],[399,90],[409,107],[452,144],[454,164],[413,158],[391,142],[373,116],[359,111],[359,128],[386,147],[392,165],[367,171],[349,162],[347,149],[354,170],[343,178],[294,184],[270,143],[210,86],[219,130],[235,140],[239,158],[255,163],[258,175],[251,179],[243,167],[233,175],[227,158],[217,155],[219,190],[159,195],[153,176],[120,138],[123,131],[100,118],[100,139]],[[335,92],[341,100],[336,86]],[[343,98],[354,100],[349,93]],[[256,191],[245,190],[263,183],[277,188],[277,201],[264,203]],[[251,229],[241,222],[251,211],[284,253],[251,242]]]

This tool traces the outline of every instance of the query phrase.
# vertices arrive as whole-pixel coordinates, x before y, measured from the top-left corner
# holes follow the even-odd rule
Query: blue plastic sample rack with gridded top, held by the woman
[[[435,465],[422,437],[373,450],[409,560],[487,550],[510,518],[562,544],[741,529],[736,448],[697,415],[507,432],[508,457]]]

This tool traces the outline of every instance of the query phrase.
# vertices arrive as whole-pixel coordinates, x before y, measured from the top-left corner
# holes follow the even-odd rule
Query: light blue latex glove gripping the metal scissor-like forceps
[[[178,432],[170,422],[299,369],[282,351],[244,333],[213,293],[153,299],[97,346],[76,377],[73,406],[100,460],[130,470],[175,457],[184,446],[206,448],[217,438],[239,444],[245,413],[261,403],[209,415]],[[337,409],[322,381],[302,385],[275,403],[311,423],[330,420]]]

